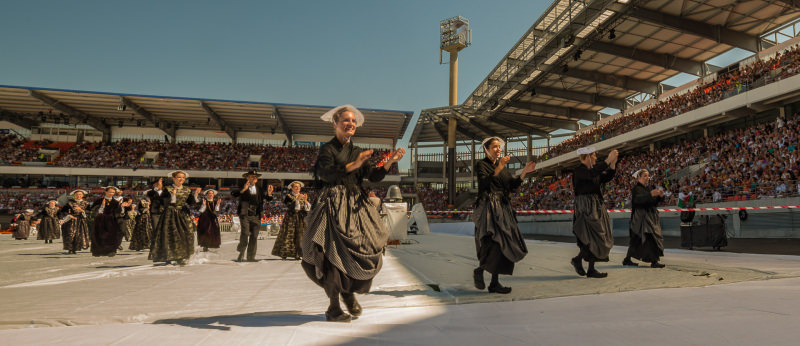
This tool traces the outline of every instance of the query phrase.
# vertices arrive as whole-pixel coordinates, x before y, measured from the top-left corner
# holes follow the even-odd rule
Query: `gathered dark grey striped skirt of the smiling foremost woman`
[[[344,185],[323,188],[306,225],[301,242],[303,262],[309,277],[318,285],[326,288],[331,283],[326,284],[325,279],[335,277],[338,283],[334,286],[348,292],[351,285],[342,281],[372,280],[381,270],[389,232],[363,193]],[[364,292],[363,284],[356,286],[360,287],[357,292]]]

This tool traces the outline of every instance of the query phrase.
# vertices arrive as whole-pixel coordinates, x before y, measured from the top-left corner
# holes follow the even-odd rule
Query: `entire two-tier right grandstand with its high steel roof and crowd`
[[[469,209],[479,142],[497,136],[510,168],[537,162],[536,177],[513,198],[519,209],[572,209],[575,150],[589,145],[599,157],[621,153],[609,208],[630,204],[630,173],[639,168],[656,173],[665,205],[798,205],[799,19],[793,1],[554,1],[462,104],[421,111],[410,139],[414,176],[404,179],[439,197],[429,209]],[[712,63],[731,52],[744,58]],[[446,146],[450,119],[455,181],[434,149]],[[459,189],[454,201],[445,184]],[[629,214],[612,217],[615,229],[627,229]],[[665,234],[677,231],[677,213],[664,217],[674,226]],[[728,223],[736,236],[797,237],[786,226],[795,218]],[[569,233],[569,215],[524,219],[549,222],[529,222],[529,232]]]

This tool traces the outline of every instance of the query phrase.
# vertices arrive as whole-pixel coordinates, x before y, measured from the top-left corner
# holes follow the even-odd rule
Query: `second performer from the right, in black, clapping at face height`
[[[572,233],[577,238],[580,252],[570,263],[578,275],[604,278],[608,273],[598,272],[594,264],[608,262],[608,253],[614,246],[614,235],[600,187],[614,179],[619,152],[612,150],[606,160],[600,162],[592,147],[578,149],[578,155],[581,164],[572,173],[572,186],[575,189]],[[584,271],[581,261],[589,262],[588,271]]]

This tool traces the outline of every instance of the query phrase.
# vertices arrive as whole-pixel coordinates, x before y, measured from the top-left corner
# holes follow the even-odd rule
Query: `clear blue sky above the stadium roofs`
[[[447,104],[439,20],[470,20],[459,102],[547,1],[15,1],[0,84],[410,110]]]

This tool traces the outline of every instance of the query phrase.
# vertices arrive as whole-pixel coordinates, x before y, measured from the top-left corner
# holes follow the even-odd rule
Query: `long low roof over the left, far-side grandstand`
[[[293,135],[330,135],[320,116],[333,106],[293,105],[186,97],[118,94],[0,85],[0,120],[30,128],[42,116],[70,119],[103,132],[123,122],[126,126],[158,127],[175,137],[176,128]],[[367,121],[359,135],[399,140],[411,111],[359,108]],[[61,120],[60,120],[61,121]],[[138,124],[141,125],[138,125]],[[367,135],[368,134],[368,135]]]

